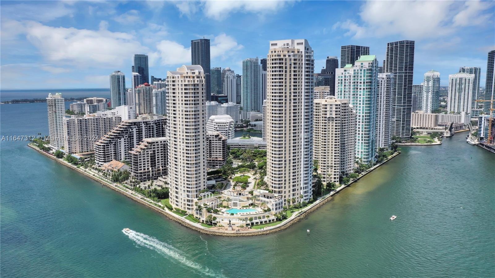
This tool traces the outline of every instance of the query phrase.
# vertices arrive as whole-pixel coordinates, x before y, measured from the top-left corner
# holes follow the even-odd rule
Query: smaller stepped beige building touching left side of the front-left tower
[[[131,154],[131,175],[139,181],[158,179],[168,174],[167,138],[143,139]]]

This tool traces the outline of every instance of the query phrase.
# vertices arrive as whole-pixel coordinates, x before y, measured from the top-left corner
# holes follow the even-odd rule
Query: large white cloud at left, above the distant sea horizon
[[[28,41],[51,62],[115,68],[134,53],[148,50],[133,35],[108,31],[105,21],[99,30],[50,27],[33,21],[24,25]]]

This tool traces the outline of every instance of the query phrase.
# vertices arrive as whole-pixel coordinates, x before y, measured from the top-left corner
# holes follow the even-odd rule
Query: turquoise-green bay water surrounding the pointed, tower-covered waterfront
[[[2,136],[48,133],[45,103],[0,119]],[[495,277],[495,155],[464,137],[403,147],[291,228],[245,238],[190,231],[2,141],[1,277]]]

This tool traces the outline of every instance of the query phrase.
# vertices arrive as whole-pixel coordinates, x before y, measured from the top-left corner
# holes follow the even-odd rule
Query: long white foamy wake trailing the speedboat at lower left
[[[172,258],[175,261],[181,263],[184,266],[188,266],[203,275],[210,276],[210,277],[225,277],[220,273],[215,273],[211,271],[209,268],[202,266],[198,263],[195,263],[191,260],[188,260],[185,256],[180,254],[180,251],[176,249],[175,247],[165,243],[161,242],[155,237],[149,236],[147,234],[141,233],[141,232],[136,232],[130,229],[124,229],[122,232],[129,236],[130,239],[132,239],[134,242],[139,244],[140,246],[147,247],[151,250],[154,250],[158,252],[160,255],[166,258]]]

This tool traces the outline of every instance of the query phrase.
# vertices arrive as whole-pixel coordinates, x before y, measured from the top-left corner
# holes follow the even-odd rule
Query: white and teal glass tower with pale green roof
[[[335,96],[349,99],[356,111],[356,154],[363,163],[375,161],[378,61],[362,55],[354,65],[336,70]]]

